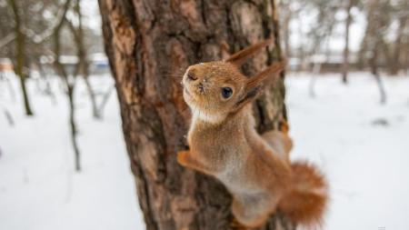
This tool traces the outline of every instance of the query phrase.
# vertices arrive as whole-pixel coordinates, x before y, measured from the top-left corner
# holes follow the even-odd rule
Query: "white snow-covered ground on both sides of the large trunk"
[[[99,91],[112,80],[93,79]],[[366,74],[286,80],[294,159],[319,165],[331,185],[323,229],[409,228],[409,78],[384,79],[386,105]],[[55,101],[29,82],[35,116],[25,117],[18,82],[15,96],[0,81],[0,229],[144,229],[125,153],[116,95],[102,121],[91,116],[82,81],[76,91],[83,172],[74,172],[67,106],[58,80]],[[15,97],[15,99],[14,99]],[[9,125],[7,109],[15,120]],[[384,228],[383,228],[384,227]]]

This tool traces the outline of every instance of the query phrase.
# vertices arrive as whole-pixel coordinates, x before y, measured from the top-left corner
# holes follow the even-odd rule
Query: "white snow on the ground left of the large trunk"
[[[26,118],[0,82],[0,229],[145,229],[125,152],[116,95],[102,121],[92,118],[85,86],[76,91],[79,145],[84,170],[74,171],[65,95],[52,79],[56,102],[29,82],[35,117]],[[100,91],[110,77],[93,79]],[[19,95],[17,81],[13,81]]]

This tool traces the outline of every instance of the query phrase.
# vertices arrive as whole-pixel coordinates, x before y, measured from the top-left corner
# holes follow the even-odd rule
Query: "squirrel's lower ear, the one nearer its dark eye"
[[[266,82],[267,80],[274,81],[277,78],[277,75],[284,70],[285,64],[285,61],[274,63],[273,65],[268,66],[258,75],[250,77],[245,85],[243,97],[236,103],[236,111],[247,103],[252,102],[263,90],[264,85],[268,85]],[[274,78],[268,79],[269,76],[272,75]]]

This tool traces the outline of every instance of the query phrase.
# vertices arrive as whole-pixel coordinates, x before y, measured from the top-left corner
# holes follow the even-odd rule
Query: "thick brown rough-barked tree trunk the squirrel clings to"
[[[277,8],[272,1],[99,0],[105,51],[115,77],[125,143],[147,229],[231,229],[231,195],[214,178],[176,162],[185,148],[189,111],[180,81],[188,65],[220,60],[267,37],[244,65],[254,74],[281,58]],[[254,103],[257,129],[286,120],[284,75]],[[261,229],[294,229],[272,216]]]

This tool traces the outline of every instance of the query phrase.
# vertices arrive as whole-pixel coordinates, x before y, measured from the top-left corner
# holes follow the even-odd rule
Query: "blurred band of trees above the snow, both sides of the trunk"
[[[290,71],[350,71],[407,75],[409,3],[406,0],[279,1],[280,34]],[[0,64],[20,77],[25,113],[32,115],[25,79],[82,77],[98,116],[90,72],[108,72],[96,3],[0,1]],[[3,71],[4,72],[4,71]],[[65,81],[75,85],[74,79]],[[70,87],[68,87],[70,88]]]

